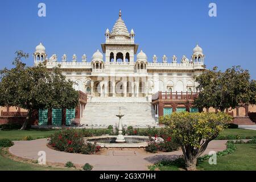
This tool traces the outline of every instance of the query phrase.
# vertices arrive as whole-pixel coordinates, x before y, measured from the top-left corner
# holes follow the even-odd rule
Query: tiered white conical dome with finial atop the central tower
[[[110,33],[110,36],[113,35],[125,35],[125,36],[130,36],[127,27],[125,25],[125,22],[123,22],[122,18],[121,18],[121,10],[119,11],[119,18],[117,19],[117,21],[114,24],[114,27]]]

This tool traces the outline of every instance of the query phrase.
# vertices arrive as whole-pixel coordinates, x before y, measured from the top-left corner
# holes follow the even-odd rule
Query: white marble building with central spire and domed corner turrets
[[[193,77],[204,69],[203,50],[197,45],[190,60],[183,56],[179,61],[175,55],[149,58],[142,50],[138,51],[135,32],[127,30],[121,16],[120,11],[111,32],[106,29],[102,52],[97,50],[92,60],[86,55],[81,56],[81,61],[76,55],[68,60],[65,54],[60,58],[54,54],[48,59],[46,48],[40,43],[34,52],[35,65],[44,60],[47,68],[60,64],[64,75],[77,83],[75,89],[88,94],[88,103],[149,104],[152,94],[158,91],[195,92]],[[89,106],[85,110],[86,107]]]

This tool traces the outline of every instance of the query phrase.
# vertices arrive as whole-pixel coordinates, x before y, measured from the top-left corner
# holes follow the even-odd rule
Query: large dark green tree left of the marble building
[[[77,106],[79,95],[73,89],[74,82],[65,80],[59,67],[53,68],[52,72],[46,68],[46,63],[27,67],[22,59],[28,55],[22,51],[17,51],[16,55],[15,67],[0,71],[0,105],[27,109],[21,130],[26,129],[34,110]]]

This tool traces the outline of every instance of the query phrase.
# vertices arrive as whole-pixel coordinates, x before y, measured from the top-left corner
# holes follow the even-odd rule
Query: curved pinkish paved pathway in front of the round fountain
[[[227,140],[213,140],[208,144],[207,150],[209,151],[222,151],[225,150]],[[139,149],[127,150],[106,150],[101,155],[83,155],[71,154],[52,150],[46,146],[47,139],[36,139],[30,141],[14,141],[14,146],[10,147],[11,154],[21,158],[37,160],[39,158],[38,152],[46,152],[46,161],[50,163],[66,163],[71,161],[74,164],[84,165],[89,163],[93,165],[93,170],[104,171],[129,171],[129,170],[148,170],[147,166],[152,165],[162,159],[175,159],[182,154],[182,151],[174,152],[161,152],[158,154],[150,154],[143,152]],[[203,155],[204,155],[203,154]]]

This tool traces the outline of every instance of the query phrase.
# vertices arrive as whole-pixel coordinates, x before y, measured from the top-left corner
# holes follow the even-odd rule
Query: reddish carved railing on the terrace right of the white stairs
[[[157,92],[152,96],[155,100],[195,100],[197,92]]]

